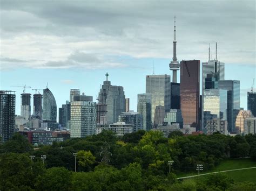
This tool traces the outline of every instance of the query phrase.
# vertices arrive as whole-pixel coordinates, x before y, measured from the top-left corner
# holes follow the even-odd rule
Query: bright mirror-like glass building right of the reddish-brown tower
[[[227,90],[225,89],[206,89],[204,91],[204,124],[206,121],[218,117],[227,120]]]

